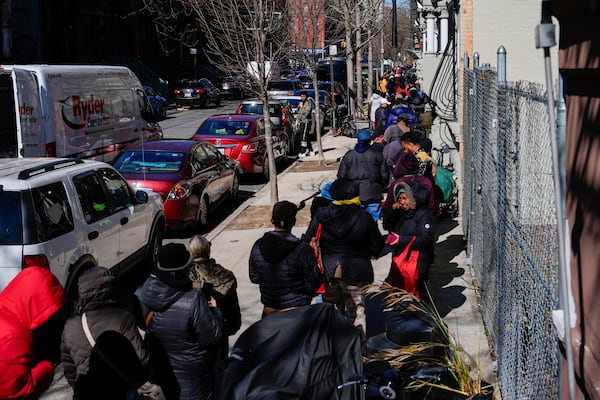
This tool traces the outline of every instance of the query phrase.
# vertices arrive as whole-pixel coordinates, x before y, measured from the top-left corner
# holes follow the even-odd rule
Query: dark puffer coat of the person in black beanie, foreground
[[[165,348],[181,388],[181,400],[213,398],[214,346],[222,335],[221,311],[210,307],[191,281],[165,282],[156,275],[140,291],[142,312],[154,315],[148,331]]]

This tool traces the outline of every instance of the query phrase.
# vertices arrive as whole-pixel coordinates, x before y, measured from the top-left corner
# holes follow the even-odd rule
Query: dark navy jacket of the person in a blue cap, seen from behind
[[[383,198],[382,192],[389,179],[389,170],[381,151],[373,146],[361,150],[357,145],[344,154],[337,177],[355,183],[361,203],[377,203]]]

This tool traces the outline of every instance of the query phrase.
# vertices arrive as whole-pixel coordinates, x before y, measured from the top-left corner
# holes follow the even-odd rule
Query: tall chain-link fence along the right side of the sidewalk
[[[465,69],[463,226],[503,399],[558,398],[558,243],[545,90]]]

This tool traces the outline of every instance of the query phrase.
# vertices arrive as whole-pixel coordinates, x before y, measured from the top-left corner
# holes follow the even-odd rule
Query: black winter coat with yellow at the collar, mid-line
[[[319,224],[322,224],[321,256],[327,279],[330,280],[336,267],[341,265],[342,280],[372,283],[371,258],[379,255],[384,240],[371,215],[359,205],[340,205],[333,201],[315,210],[303,240],[309,241]]]

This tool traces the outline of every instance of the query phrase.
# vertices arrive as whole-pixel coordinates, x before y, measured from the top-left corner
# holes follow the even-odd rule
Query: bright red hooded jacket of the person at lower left
[[[54,367],[36,360],[32,331],[64,303],[60,282],[41,267],[25,268],[0,292],[0,398],[27,399],[50,386]]]

